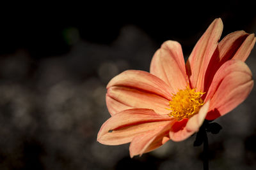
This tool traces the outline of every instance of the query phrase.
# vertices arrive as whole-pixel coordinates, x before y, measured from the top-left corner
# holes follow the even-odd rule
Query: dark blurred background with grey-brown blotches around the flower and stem
[[[67,5],[1,11],[0,169],[202,169],[195,136],[133,159],[129,144],[97,143],[110,117],[106,85],[126,69],[149,71],[168,39],[188,57],[214,18],[223,36],[256,33],[255,1]],[[246,63],[255,80],[255,49]],[[255,99],[254,88],[216,120],[223,129],[209,134],[210,169],[256,169]]]

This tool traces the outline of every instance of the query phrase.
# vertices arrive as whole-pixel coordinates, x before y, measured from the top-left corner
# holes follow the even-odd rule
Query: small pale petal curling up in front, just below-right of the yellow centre
[[[189,118],[188,124],[186,125],[186,129],[190,132],[197,132],[199,128],[204,123],[205,117],[208,113],[210,106],[210,101],[207,101],[202,108],[200,108],[198,114],[194,115],[193,117]]]

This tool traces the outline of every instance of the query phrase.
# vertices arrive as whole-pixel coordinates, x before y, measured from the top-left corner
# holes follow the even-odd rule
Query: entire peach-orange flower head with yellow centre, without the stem
[[[244,63],[256,38],[236,31],[218,43],[223,24],[215,19],[196,43],[188,61],[176,41],[154,54],[150,73],[128,70],[107,85],[111,118],[97,141],[130,143],[130,155],[142,155],[169,139],[182,141],[197,132],[204,119],[214,120],[244,101],[253,87]]]

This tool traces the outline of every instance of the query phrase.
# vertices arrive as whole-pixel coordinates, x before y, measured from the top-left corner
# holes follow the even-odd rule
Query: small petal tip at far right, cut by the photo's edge
[[[250,52],[252,51],[253,46],[255,45],[256,38],[254,34],[250,34],[240,48],[237,50],[236,54],[234,55],[233,59],[239,59],[245,61]]]

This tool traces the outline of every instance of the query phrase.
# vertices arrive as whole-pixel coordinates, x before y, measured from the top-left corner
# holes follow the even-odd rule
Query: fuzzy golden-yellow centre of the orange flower
[[[172,96],[172,101],[169,102],[171,113],[170,117],[175,117],[177,120],[182,118],[191,118],[198,113],[204,105],[201,98],[204,92],[195,92],[195,89],[190,89],[189,85],[184,90],[179,90],[177,94]]]

